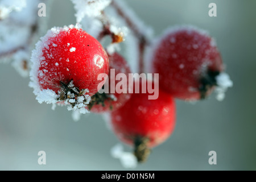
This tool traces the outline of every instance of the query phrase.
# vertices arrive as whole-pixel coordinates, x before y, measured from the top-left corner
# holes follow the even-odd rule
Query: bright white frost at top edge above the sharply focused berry
[[[112,2],[111,0],[72,0],[76,10],[76,20],[81,22],[84,16],[97,17]]]

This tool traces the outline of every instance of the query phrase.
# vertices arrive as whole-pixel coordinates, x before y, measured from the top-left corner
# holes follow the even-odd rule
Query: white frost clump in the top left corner
[[[26,7],[26,0],[1,0],[0,19],[5,19],[12,11],[21,11]]]

